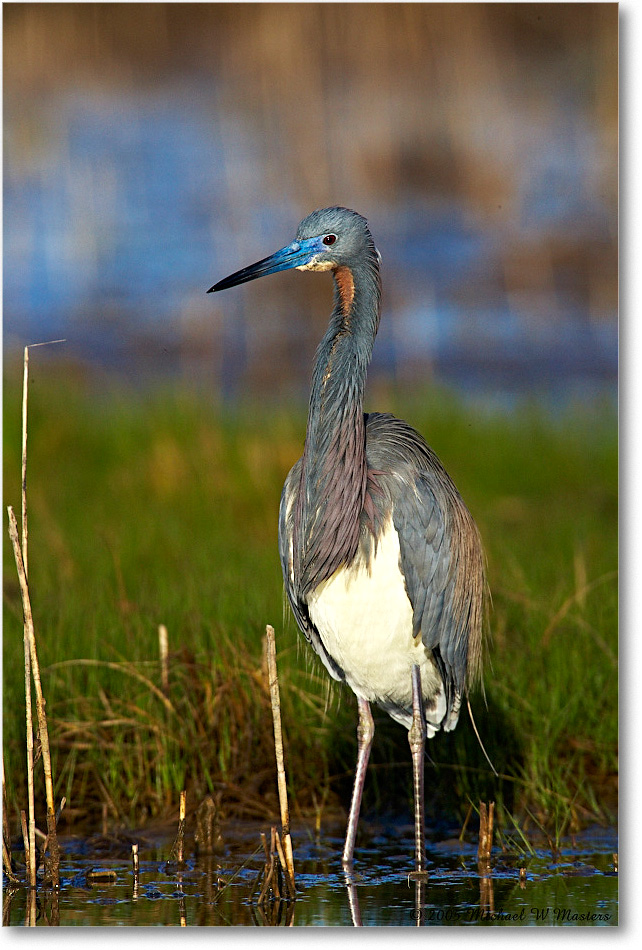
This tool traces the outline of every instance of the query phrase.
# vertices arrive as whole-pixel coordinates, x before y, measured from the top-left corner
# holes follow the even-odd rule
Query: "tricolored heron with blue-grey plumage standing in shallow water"
[[[365,218],[325,208],[287,247],[210,291],[291,267],[332,272],[334,308],[317,350],[303,456],[281,496],[283,580],[304,636],[357,697],[343,863],[354,856],[374,702],[409,729],[421,871],[425,738],[455,728],[478,671],[484,565],[475,522],[423,438],[392,415],[363,412],[380,261]]]

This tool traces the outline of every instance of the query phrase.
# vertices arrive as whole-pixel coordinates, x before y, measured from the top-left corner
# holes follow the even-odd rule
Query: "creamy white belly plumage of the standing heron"
[[[394,704],[393,719],[410,725],[413,664],[421,670],[428,735],[446,711],[441,677],[421,637],[412,635],[412,605],[399,567],[399,538],[388,521],[366,565],[341,568],[308,595],[308,610],[327,652],[357,696]],[[435,727],[431,727],[431,721]]]

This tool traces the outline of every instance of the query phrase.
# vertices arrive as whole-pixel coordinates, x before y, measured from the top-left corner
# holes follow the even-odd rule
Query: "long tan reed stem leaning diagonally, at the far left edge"
[[[58,837],[56,835],[56,812],[53,796],[53,781],[51,777],[51,755],[49,752],[49,731],[47,729],[47,715],[45,713],[45,699],[42,694],[42,684],[40,682],[40,666],[38,665],[38,653],[36,650],[36,634],[33,626],[33,614],[31,612],[31,601],[29,599],[29,585],[27,575],[25,574],[20,541],[18,539],[18,525],[16,516],[11,505],[8,506],[9,514],[9,536],[13,545],[13,553],[16,560],[16,569],[18,571],[18,581],[20,582],[20,593],[22,596],[22,611],[24,614],[25,630],[29,641],[29,657],[31,661],[31,674],[36,690],[36,712],[38,715],[38,733],[40,736],[40,746],[42,749],[42,762],[45,773],[45,792],[47,796],[47,834],[51,846],[51,857],[53,865],[52,880],[54,887],[59,883],[59,850]],[[30,690],[28,691],[30,692]],[[32,871],[33,874],[33,871]]]

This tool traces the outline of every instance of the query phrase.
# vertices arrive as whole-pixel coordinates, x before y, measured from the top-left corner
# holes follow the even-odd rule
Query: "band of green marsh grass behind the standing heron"
[[[20,509],[17,371],[5,379],[5,504]],[[32,369],[29,570],[56,793],[128,823],[221,793],[276,814],[266,623],[277,633],[294,813],[345,803],[355,706],[285,615],[277,511],[302,412],[217,409],[186,391],[125,392],[73,367]],[[560,835],[609,820],[617,773],[617,434],[612,410],[475,412],[443,393],[382,402],[427,437],[478,521],[493,595],[484,695],[429,744],[427,804],[463,821]],[[6,520],[5,520],[6,526]],[[22,613],[5,530],[4,756],[25,807]],[[160,691],[158,625],[170,641]],[[405,731],[383,714],[364,809],[406,806]],[[38,786],[42,783],[38,782]],[[509,813],[511,817],[509,817]]]

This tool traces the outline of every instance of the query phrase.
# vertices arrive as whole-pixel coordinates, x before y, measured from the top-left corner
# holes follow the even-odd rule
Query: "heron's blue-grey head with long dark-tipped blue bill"
[[[292,267],[316,271],[352,267],[370,254],[378,256],[365,218],[348,208],[322,208],[303,219],[287,247],[225,277],[208,293]]]

